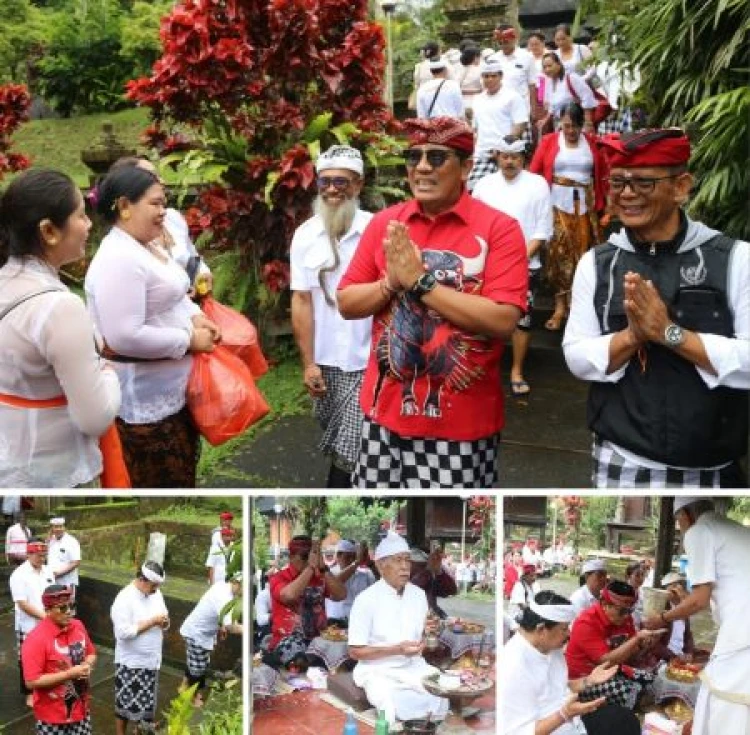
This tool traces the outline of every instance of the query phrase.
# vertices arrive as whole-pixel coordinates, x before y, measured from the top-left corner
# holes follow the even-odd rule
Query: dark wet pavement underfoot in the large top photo
[[[526,359],[531,393],[510,394],[510,349],[503,357],[506,427],[500,450],[504,488],[590,487],[590,433],[586,428],[586,383],[574,378],[560,347],[562,333],[544,329],[549,311],[535,312]],[[280,419],[229,461],[226,476],[206,478],[206,487],[320,488],[328,464],[317,450],[320,429],[309,416]],[[238,477],[244,478],[239,480]]]

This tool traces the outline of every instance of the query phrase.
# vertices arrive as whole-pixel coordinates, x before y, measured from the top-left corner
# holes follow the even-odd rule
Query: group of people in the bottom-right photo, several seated
[[[567,597],[542,590],[533,562],[511,596],[506,614],[504,712],[509,735],[529,731],[563,735],[584,731],[639,735],[635,714],[669,662],[706,663],[695,704],[693,735],[742,732],[750,726],[743,667],[748,636],[736,616],[748,602],[742,580],[750,531],[717,515],[712,500],[674,500],[683,534],[688,578],[661,579],[667,600],[661,613],[644,606],[653,584],[651,561],[636,561],[612,578],[602,559],[581,566],[581,586]],[[713,651],[698,649],[690,617],[713,608],[718,635]],[[512,616],[512,619],[508,618]],[[743,694],[744,693],[744,694]],[[641,714],[642,714],[642,710]]]

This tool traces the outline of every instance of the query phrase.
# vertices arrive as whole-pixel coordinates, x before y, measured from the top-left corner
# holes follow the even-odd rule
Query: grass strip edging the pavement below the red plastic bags
[[[249,476],[229,465],[231,458],[260,434],[268,431],[279,419],[309,413],[310,401],[302,386],[302,365],[296,355],[288,355],[258,381],[271,411],[262,421],[251,426],[242,436],[226,444],[212,447],[201,440],[201,458],[198,463],[200,485],[210,486],[217,477],[236,480],[238,484],[252,487],[273,487],[267,478]]]

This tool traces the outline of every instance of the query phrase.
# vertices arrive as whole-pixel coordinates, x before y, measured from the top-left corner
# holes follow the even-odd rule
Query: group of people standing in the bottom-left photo
[[[65,518],[49,521],[49,534],[35,536],[23,511],[6,533],[5,557],[12,568],[10,594],[15,608],[20,692],[33,712],[37,735],[89,735],[101,731],[91,720],[91,678],[96,646],[86,621],[76,617],[80,597],[81,544]],[[243,626],[228,605],[242,595],[242,574],[224,572],[224,553],[234,539],[232,514],[222,513],[212,532],[206,561],[209,589],[182,623],[185,673],[180,689],[194,687],[193,703],[203,704],[206,675],[217,639],[242,635]],[[132,724],[156,732],[157,693],[170,614],[162,594],[164,566],[147,560],[123,587],[109,611],[114,646],[114,721],[117,735]]]

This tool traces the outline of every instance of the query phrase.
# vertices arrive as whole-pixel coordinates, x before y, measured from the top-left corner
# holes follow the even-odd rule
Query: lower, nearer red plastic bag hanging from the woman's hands
[[[223,345],[193,355],[187,405],[198,431],[214,446],[238,436],[270,410],[250,369]]]

